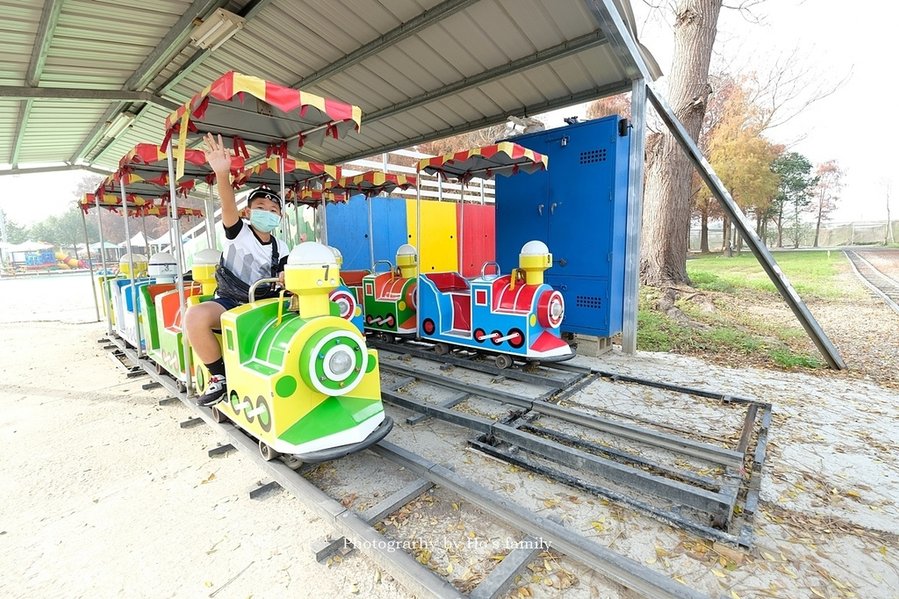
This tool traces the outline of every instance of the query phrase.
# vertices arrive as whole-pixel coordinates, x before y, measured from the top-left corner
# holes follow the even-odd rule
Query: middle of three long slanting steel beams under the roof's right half
[[[576,37],[573,40],[562,42],[561,44],[546,48],[545,50],[540,50],[539,52],[535,52],[533,54],[529,54],[528,56],[512,60],[510,62],[507,62],[506,64],[499,65],[492,69],[487,69],[486,71],[478,73],[477,75],[474,75],[472,77],[460,79],[455,83],[450,83],[449,85],[445,85],[439,89],[426,92],[420,96],[409,98],[408,100],[397,102],[392,106],[387,106],[385,108],[370,112],[365,115],[365,123],[370,125],[372,122],[394,116],[400,112],[418,108],[419,106],[423,106],[430,102],[440,100],[441,98],[446,98],[448,96],[458,94],[463,90],[478,87],[495,79],[499,79],[507,75],[512,75],[520,71],[530,69],[544,62],[558,60],[559,58],[563,58],[571,54],[576,54],[589,48],[600,46],[604,43],[606,43],[606,36],[602,31],[591,31],[590,33],[587,33],[580,37]],[[630,89],[629,86],[628,89]],[[437,138],[432,137],[431,139]]]

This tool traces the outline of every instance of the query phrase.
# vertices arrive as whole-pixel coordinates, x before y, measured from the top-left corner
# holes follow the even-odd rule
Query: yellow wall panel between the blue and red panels
[[[415,245],[418,237],[415,229],[415,200],[406,200],[406,227],[409,243]],[[459,250],[456,244],[455,202],[421,202],[421,246],[418,262],[422,272],[449,272],[459,270]]]

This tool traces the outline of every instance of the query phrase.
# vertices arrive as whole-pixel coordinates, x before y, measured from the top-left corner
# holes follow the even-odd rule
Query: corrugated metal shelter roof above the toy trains
[[[627,91],[639,69],[596,16],[615,6],[633,21],[628,0],[0,0],[0,169],[115,168],[229,70],[361,106],[360,133],[303,148],[330,163]],[[217,8],[244,28],[190,45]]]

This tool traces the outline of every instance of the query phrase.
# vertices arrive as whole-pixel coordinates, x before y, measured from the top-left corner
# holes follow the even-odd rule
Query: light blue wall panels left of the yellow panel
[[[405,202],[397,198],[376,197],[372,202],[372,227],[375,260],[394,261],[396,249],[406,243]],[[343,254],[345,270],[371,268],[368,245],[368,206],[363,195],[355,195],[345,204],[329,204],[328,243]]]

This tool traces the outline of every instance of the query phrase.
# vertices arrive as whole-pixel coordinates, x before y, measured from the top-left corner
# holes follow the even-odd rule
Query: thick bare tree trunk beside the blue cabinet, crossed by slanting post
[[[722,0],[679,0],[668,99],[693,139],[699,139],[711,88],[709,61]],[[648,285],[687,282],[692,166],[674,137],[662,133],[649,162],[643,207],[640,274]]]

